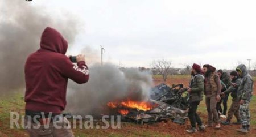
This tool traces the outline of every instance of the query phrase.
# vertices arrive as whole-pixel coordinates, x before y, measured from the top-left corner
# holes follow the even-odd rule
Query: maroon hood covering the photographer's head
[[[68,49],[68,42],[56,29],[47,27],[42,33],[40,47],[52,52],[65,54]]]

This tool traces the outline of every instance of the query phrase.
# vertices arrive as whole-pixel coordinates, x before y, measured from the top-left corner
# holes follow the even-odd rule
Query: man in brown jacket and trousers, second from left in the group
[[[204,87],[205,87],[205,104],[207,106],[208,113],[208,124],[206,127],[213,126],[213,119],[216,123],[215,129],[220,129],[220,119],[218,118],[218,112],[216,109],[216,104],[220,101],[221,93],[221,82],[220,77],[215,72],[216,68],[210,65],[203,66],[203,72],[205,76]]]

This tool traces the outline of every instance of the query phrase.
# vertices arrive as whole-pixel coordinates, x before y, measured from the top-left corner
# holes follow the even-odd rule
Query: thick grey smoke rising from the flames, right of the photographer
[[[152,86],[148,72],[135,68],[121,71],[111,64],[93,65],[89,68],[89,82],[69,84],[67,111],[72,114],[102,114],[109,101],[122,99],[147,100]]]

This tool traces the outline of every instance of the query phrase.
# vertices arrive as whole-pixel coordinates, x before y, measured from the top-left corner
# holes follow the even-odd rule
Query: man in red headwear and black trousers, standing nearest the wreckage
[[[189,109],[188,117],[191,124],[191,129],[187,130],[189,133],[196,132],[196,123],[199,126],[199,130],[205,130],[203,122],[201,121],[199,115],[196,113],[197,106],[200,101],[203,100],[204,91],[204,76],[202,75],[201,66],[193,64],[191,71],[191,82],[189,83],[188,95],[189,95]]]

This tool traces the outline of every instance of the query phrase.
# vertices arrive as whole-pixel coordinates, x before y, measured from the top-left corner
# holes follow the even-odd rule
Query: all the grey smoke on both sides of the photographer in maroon
[[[70,45],[80,30],[80,22],[72,15],[56,18],[31,2],[0,0],[0,3],[0,93],[3,95],[24,89],[24,63],[29,54],[39,49],[44,28],[56,28]],[[68,110],[72,113],[92,114],[108,101],[126,97],[147,99],[152,85],[149,74],[135,69],[121,71],[110,64],[101,66],[94,50],[85,48],[84,53],[89,60],[90,79],[82,85],[69,83]],[[96,64],[91,66],[91,63]]]

